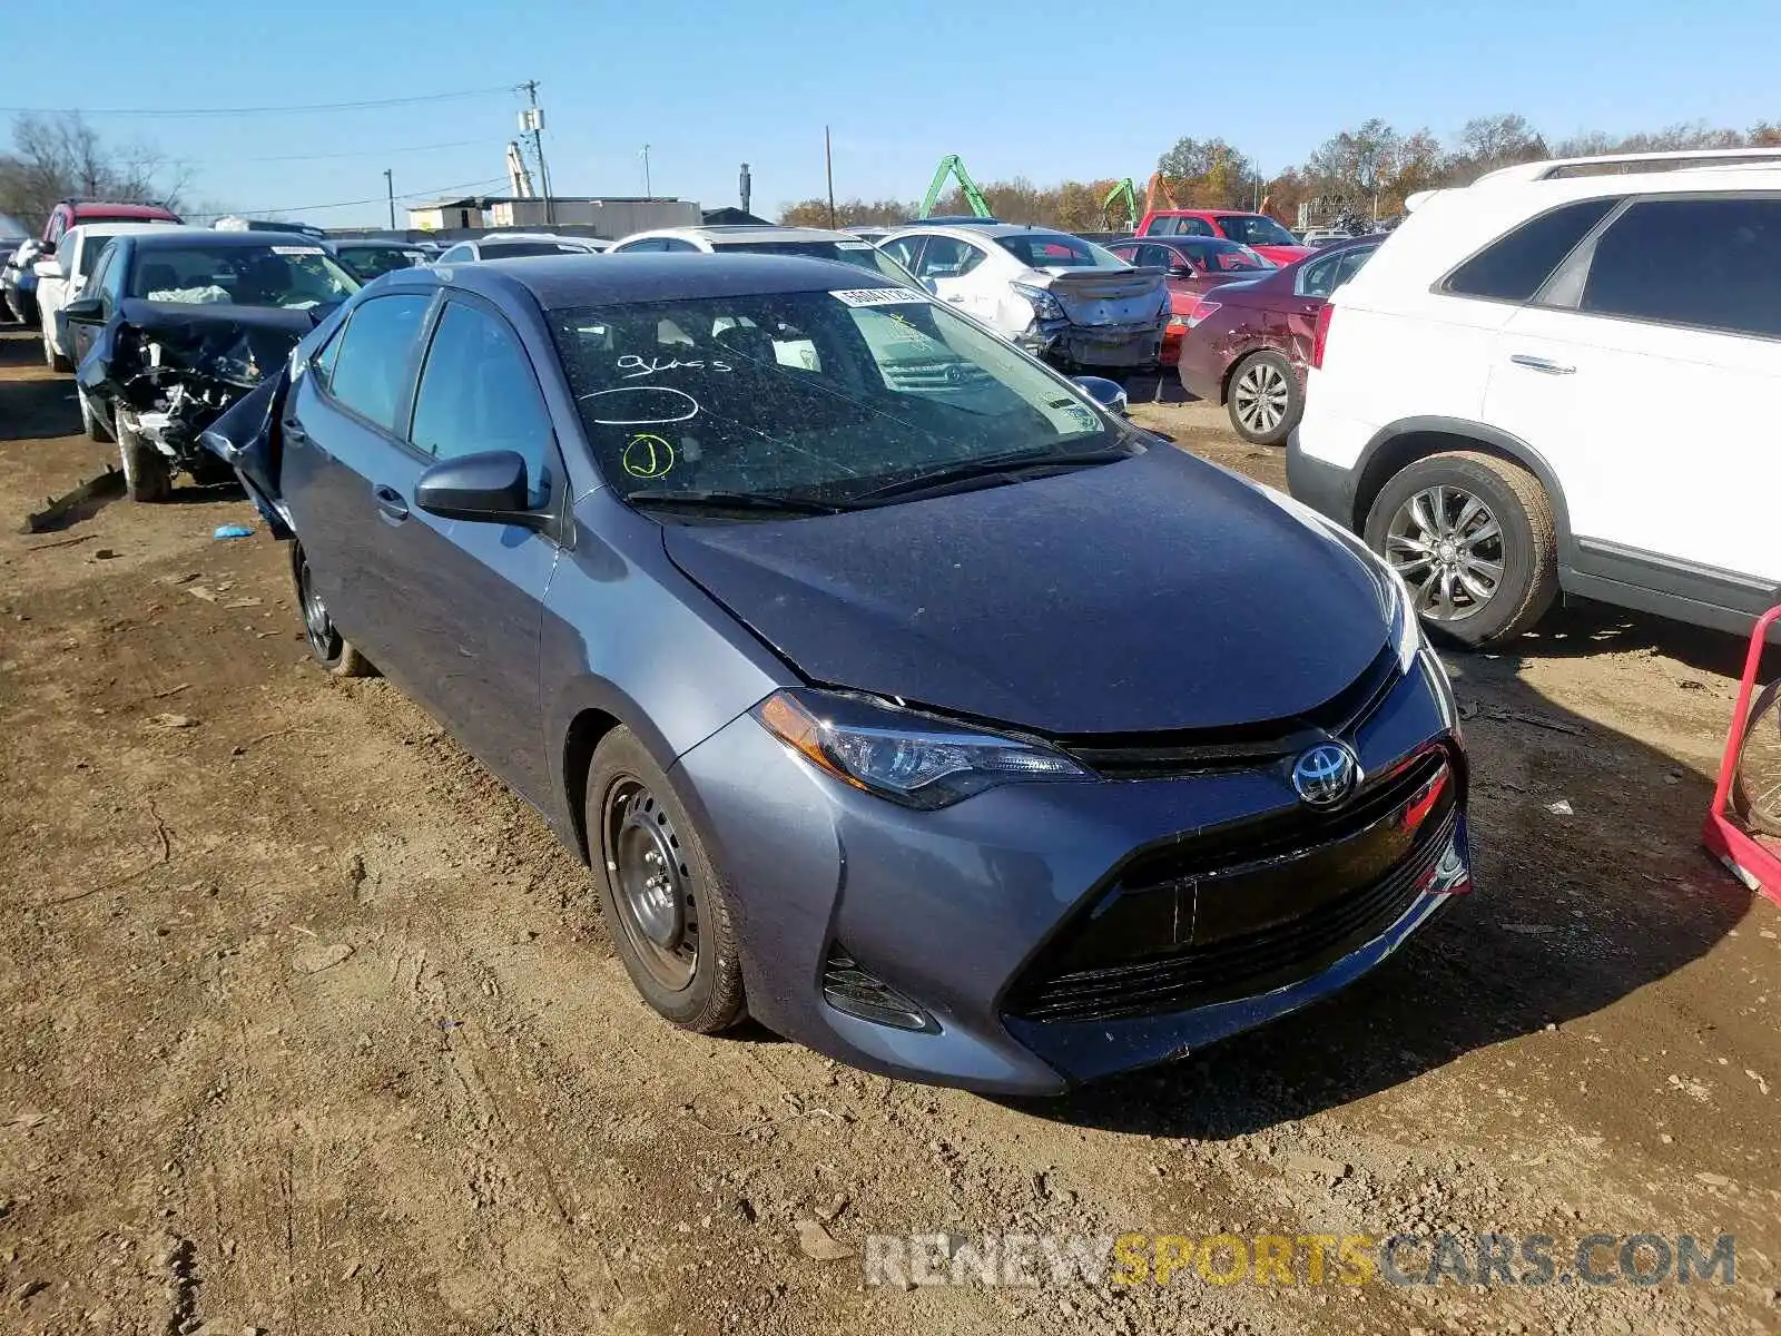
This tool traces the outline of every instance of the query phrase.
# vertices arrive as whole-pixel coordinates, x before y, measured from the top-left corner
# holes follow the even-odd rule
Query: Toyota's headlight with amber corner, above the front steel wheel
[[[775,691],[753,709],[769,734],[842,784],[931,811],[1015,780],[1092,778],[1061,752],[828,691]]]

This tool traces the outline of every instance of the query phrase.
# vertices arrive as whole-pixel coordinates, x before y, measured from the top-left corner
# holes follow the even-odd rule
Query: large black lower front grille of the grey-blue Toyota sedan
[[[1010,1015],[1099,1021],[1254,996],[1391,926],[1459,823],[1444,748],[1341,812],[1309,809],[1140,851],[1028,965]]]

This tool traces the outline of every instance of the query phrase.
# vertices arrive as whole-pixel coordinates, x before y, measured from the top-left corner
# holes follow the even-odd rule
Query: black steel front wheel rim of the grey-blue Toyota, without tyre
[[[655,983],[682,992],[698,973],[698,898],[680,832],[630,775],[607,789],[602,825],[618,930]]]

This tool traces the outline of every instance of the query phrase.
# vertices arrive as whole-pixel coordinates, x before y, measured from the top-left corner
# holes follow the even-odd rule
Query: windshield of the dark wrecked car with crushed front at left
[[[321,246],[157,246],[135,257],[130,296],[192,306],[308,310],[346,301],[358,280]]]

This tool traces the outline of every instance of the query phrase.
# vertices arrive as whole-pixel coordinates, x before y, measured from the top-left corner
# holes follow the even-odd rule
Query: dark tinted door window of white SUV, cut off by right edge
[[[1644,200],[1596,242],[1578,310],[1781,338],[1781,200]]]

